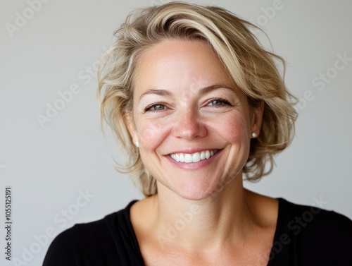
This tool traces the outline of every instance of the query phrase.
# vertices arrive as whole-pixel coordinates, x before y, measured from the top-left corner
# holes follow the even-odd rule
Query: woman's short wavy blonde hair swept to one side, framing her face
[[[275,64],[278,61],[284,69],[284,60],[261,47],[251,32],[253,28],[258,29],[223,8],[172,2],[132,12],[115,32],[116,40],[103,55],[99,68],[101,118],[127,153],[127,167],[116,164],[116,168],[134,174],[134,181],[145,196],[157,193],[156,180],[139,157],[125,115],[132,111],[134,70],[140,56],[163,40],[207,42],[247,95],[250,107],[264,102],[260,135],[251,140],[243,169],[247,180],[256,181],[269,174],[274,155],[291,143],[297,114],[290,100],[295,98]]]

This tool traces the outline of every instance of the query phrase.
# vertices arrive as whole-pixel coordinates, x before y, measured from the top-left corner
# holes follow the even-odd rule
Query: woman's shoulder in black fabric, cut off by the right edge
[[[337,212],[279,199],[272,255],[299,265],[346,265],[351,258],[352,221]]]

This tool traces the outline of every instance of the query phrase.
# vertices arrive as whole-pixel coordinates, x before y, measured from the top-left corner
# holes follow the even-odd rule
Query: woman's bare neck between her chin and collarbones
[[[158,184],[153,228],[163,244],[180,243],[187,250],[235,245],[251,226],[248,197],[241,176],[203,200],[186,200]]]

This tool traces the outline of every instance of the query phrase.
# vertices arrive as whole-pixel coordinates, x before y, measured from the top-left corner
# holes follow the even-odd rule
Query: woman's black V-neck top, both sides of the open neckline
[[[130,222],[130,207],[56,236],[44,266],[144,265]],[[279,198],[268,266],[352,265],[352,221],[336,212]]]

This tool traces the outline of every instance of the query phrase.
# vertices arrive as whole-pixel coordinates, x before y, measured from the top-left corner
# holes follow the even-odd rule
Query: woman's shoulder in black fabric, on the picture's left
[[[121,256],[134,247],[129,223],[133,203],[103,219],[63,231],[51,243],[43,265],[115,265],[124,260]]]

